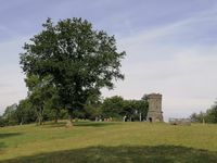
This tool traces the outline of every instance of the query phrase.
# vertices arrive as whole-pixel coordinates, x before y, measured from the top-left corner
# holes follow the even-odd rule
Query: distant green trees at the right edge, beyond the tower
[[[190,116],[192,122],[195,123],[217,123],[217,102],[206,112],[193,113]]]

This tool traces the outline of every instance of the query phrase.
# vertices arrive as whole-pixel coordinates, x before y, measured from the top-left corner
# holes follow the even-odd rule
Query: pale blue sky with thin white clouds
[[[163,95],[168,117],[205,111],[217,98],[216,0],[0,0],[0,114],[27,95],[23,45],[54,22],[82,17],[115,35],[125,80],[103,97]]]

